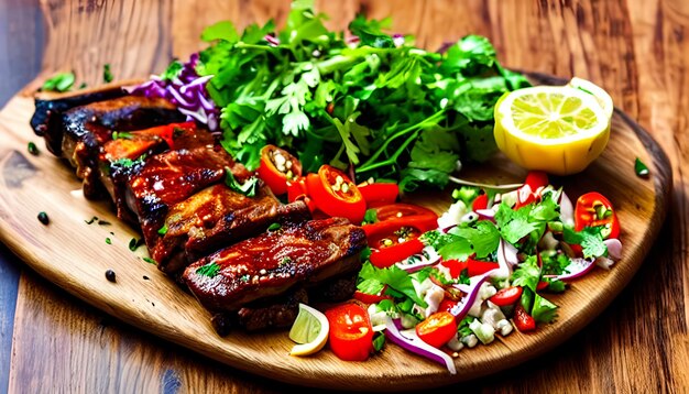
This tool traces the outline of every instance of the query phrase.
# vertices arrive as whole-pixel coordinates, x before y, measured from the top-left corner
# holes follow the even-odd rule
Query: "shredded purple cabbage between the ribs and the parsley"
[[[133,87],[124,89],[130,95],[151,98],[165,98],[177,107],[179,112],[187,116],[187,120],[196,120],[208,125],[210,131],[218,129],[219,110],[206,90],[206,84],[212,75],[199,76],[196,73],[198,54],[189,57],[182,64],[181,72],[173,78],[163,78],[152,75],[151,78]]]

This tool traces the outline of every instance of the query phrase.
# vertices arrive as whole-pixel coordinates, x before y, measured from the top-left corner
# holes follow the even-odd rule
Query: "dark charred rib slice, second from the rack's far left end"
[[[112,132],[183,122],[185,116],[162,98],[124,96],[79,106],[63,116],[62,155],[76,168],[87,198],[101,197],[98,158]]]

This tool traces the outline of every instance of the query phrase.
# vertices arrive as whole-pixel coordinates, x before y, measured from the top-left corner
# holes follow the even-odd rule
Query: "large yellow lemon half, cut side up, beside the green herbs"
[[[497,147],[526,169],[555,175],[583,171],[608,145],[612,99],[582,81],[504,94],[495,105]]]

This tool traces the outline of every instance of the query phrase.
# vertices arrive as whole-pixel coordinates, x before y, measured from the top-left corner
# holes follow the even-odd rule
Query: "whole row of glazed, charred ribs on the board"
[[[298,303],[351,297],[367,245],[360,227],[280,201],[216,134],[163,99],[108,88],[55,100],[36,100],[36,133],[75,167],[85,196],[108,196],[141,231],[157,267],[219,333],[285,327]],[[240,193],[229,178],[256,185]]]

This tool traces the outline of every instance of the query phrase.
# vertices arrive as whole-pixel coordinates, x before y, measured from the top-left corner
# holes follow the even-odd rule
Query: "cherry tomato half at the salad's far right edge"
[[[575,207],[575,230],[587,227],[603,227],[603,239],[620,237],[620,221],[612,204],[598,191],[589,191],[577,199]]]

